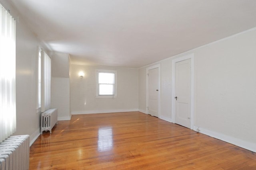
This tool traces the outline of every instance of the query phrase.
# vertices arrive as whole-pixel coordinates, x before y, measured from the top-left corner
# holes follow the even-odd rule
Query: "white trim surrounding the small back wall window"
[[[99,95],[99,72],[115,74],[114,95]],[[96,96],[95,97],[96,98],[117,98],[117,71],[116,70],[96,69]]]

